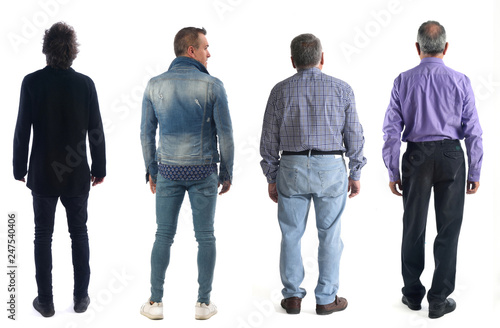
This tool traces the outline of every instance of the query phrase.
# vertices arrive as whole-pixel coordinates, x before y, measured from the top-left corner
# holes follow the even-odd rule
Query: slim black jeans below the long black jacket
[[[74,290],[77,299],[88,296],[90,279],[89,239],[87,235],[88,193],[78,197],[61,196],[66,208],[68,229],[71,237],[73,257]],[[59,197],[46,197],[33,193],[35,213],[35,268],[38,299],[42,303],[52,302],[52,233]]]

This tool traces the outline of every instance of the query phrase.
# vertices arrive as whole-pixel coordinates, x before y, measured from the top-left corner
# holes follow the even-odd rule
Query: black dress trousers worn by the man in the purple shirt
[[[431,190],[434,189],[437,236],[435,269],[427,293],[429,303],[442,303],[455,289],[457,247],[465,197],[465,159],[458,140],[408,142],[402,161],[403,243],[402,289],[410,302],[420,303],[425,287],[425,230]]]

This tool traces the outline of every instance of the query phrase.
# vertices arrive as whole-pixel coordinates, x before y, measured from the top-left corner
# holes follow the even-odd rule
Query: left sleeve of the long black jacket
[[[14,178],[21,180],[28,173],[28,151],[31,136],[32,101],[30,99],[26,78],[21,85],[19,112],[17,115],[16,129],[14,132]]]

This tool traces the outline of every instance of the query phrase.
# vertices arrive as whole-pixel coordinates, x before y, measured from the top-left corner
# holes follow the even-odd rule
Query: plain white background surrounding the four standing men
[[[0,10],[0,249],[7,260],[7,214],[18,214],[17,321],[1,325],[105,327],[130,323],[144,327],[498,327],[500,288],[498,199],[498,58],[500,7],[497,1],[3,1]],[[494,17],[497,18],[496,22]],[[439,320],[401,304],[400,244],[402,201],[388,188],[382,162],[382,122],[394,78],[419,63],[414,43],[426,20],[438,20],[450,43],[445,63],[472,81],[484,130],[481,188],[466,197],[460,237],[457,310]],[[12,137],[23,77],[45,66],[41,53],[46,28],[72,25],[81,44],[73,68],[97,87],[106,126],[108,175],[89,201],[92,303],[85,314],[72,311],[70,240],[64,208],[58,205],[53,242],[56,314],[42,318],[31,306],[36,296],[33,214],[30,191],[12,176]],[[197,295],[196,250],[189,204],[179,218],[165,284],[162,322],[139,314],[149,297],[149,259],[155,232],[154,196],[144,181],[139,140],[141,99],[147,80],[174,59],[173,38],[186,26],[205,27],[212,57],[209,72],[226,87],[236,144],[234,185],[219,198],[216,214],[218,258],[212,300],[219,314],[194,320]],[[354,89],[366,138],[361,194],[348,200],[343,215],[345,249],[339,295],[346,311],[314,313],[317,238],[314,213],[303,238],[309,291],[302,313],[290,316],[279,306],[280,232],[276,205],[267,196],[258,142],[265,104],[274,84],[294,74],[289,44],[300,33],[323,44],[323,71]],[[495,59],[496,58],[496,59]],[[495,146],[496,145],[496,146]],[[432,204],[431,204],[432,206]],[[432,208],[432,207],[431,207]],[[435,223],[429,214],[427,267],[433,270]],[[7,300],[7,276],[0,299]],[[496,314],[494,314],[496,312]]]

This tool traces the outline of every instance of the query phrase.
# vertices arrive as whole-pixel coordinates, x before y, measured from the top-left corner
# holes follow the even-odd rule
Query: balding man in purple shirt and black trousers
[[[482,130],[470,80],[443,63],[448,49],[444,27],[435,21],[422,24],[416,46],[420,65],[394,81],[384,119],[382,153],[389,187],[395,195],[403,196],[402,301],[412,310],[421,309],[426,293],[420,275],[424,270],[429,199],[434,189],[436,267],[427,299],[429,317],[439,318],[456,307],[448,296],[455,288],[465,190],[474,194],[479,188]],[[467,183],[462,139],[469,165]],[[400,175],[401,140],[407,148]]]

